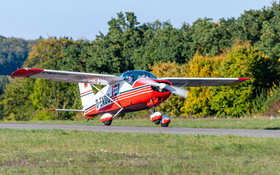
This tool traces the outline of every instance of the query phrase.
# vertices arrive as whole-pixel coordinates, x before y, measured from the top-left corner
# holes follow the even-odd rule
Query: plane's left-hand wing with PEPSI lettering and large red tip
[[[43,78],[51,81],[64,81],[73,83],[88,83],[87,79],[95,85],[111,85],[118,81],[123,80],[123,77],[107,74],[93,74],[93,73],[80,73],[70,71],[55,71],[48,69],[36,68],[21,68],[13,72],[11,76],[15,77],[30,77],[30,78]]]

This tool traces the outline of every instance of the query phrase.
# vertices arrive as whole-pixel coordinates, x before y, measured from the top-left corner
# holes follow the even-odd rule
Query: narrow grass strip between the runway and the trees
[[[99,118],[94,120],[46,120],[46,121],[11,121],[9,123],[46,123],[46,124],[68,124],[68,125],[104,125]],[[113,126],[158,126],[149,119],[113,120]],[[171,119],[169,127],[190,128],[224,128],[224,129],[280,129],[280,119]]]

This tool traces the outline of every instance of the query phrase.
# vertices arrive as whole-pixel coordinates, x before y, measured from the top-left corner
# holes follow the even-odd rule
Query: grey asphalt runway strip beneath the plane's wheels
[[[204,134],[204,135],[234,135],[250,137],[280,138],[280,130],[261,129],[209,129],[181,127],[140,127],[140,126],[97,126],[97,125],[59,125],[59,124],[27,124],[0,123],[0,129],[62,129],[94,132],[130,132],[130,133],[169,133],[169,134]]]

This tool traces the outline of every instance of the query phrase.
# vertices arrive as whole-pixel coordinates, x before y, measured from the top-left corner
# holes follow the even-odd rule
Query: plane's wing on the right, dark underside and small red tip
[[[167,80],[174,86],[200,87],[200,86],[235,86],[251,78],[158,78],[158,80]]]

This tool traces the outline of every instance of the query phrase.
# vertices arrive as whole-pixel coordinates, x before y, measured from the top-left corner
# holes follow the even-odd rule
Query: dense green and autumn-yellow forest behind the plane
[[[236,87],[190,88],[187,99],[171,96],[160,111],[171,116],[278,115],[269,107],[274,102],[265,102],[272,97],[265,92],[277,89],[280,80],[280,1],[244,11],[237,19],[199,18],[179,29],[169,21],[140,24],[133,12],[117,15],[108,22],[109,32],[100,33],[92,42],[50,37],[37,40],[30,50],[31,41],[11,38],[8,42],[2,37],[3,65],[12,71],[34,67],[119,75],[137,69],[152,71],[157,77],[251,77]],[[0,119],[5,120],[69,119],[76,114],[41,110],[82,108],[75,83],[13,78],[3,98]]]

